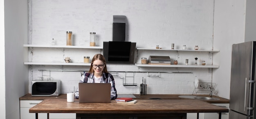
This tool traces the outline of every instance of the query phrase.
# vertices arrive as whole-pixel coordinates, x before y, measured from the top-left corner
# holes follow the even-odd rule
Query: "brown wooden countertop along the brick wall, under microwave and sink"
[[[139,94],[133,94],[136,98],[134,99],[177,99],[177,100],[191,100],[189,98],[182,98],[179,97],[180,95],[178,94],[147,94],[147,95],[139,95]],[[196,95],[194,95],[196,96]],[[205,97],[210,97],[209,95],[198,95],[198,96],[205,96]],[[20,100],[45,100],[45,99],[66,99],[67,95],[66,94],[61,94],[59,96],[31,96],[31,94],[24,95],[20,97]],[[216,96],[213,96],[216,97]],[[220,100],[202,100],[204,102],[212,103],[212,104],[217,104],[217,103],[229,103],[228,99],[222,98],[222,97],[217,97],[220,98]],[[194,99],[195,100],[195,99]]]

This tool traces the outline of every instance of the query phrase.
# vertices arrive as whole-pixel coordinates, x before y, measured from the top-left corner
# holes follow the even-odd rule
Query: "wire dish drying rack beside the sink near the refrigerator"
[[[197,84],[195,84],[194,82],[194,86],[195,86],[195,90],[193,91],[192,94],[194,93],[196,95],[198,95],[198,93],[210,94],[212,92],[212,95],[216,95],[216,91],[215,91],[216,83],[198,82]]]

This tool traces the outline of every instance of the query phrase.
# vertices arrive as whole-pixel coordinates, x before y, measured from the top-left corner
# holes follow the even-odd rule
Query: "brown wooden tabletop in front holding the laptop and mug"
[[[29,109],[29,113],[227,113],[227,108],[200,100],[143,100],[135,104],[79,103],[67,99],[45,99]]]

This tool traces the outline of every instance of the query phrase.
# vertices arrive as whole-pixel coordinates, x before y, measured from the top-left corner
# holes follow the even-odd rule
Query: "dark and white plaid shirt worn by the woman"
[[[81,76],[79,82],[94,83],[94,73],[83,74]],[[111,98],[111,100],[115,100],[117,98],[117,90],[115,88],[115,80],[114,80],[113,76],[110,73],[103,73],[100,83],[110,83],[111,84],[110,98]],[[77,91],[75,93],[75,98],[79,98],[79,88],[77,88]]]

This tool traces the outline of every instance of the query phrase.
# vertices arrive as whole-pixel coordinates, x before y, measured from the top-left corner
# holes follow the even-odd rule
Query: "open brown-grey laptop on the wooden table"
[[[110,103],[110,83],[79,83],[79,102]]]

